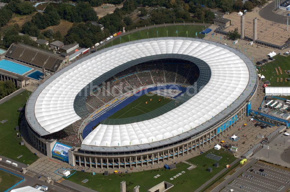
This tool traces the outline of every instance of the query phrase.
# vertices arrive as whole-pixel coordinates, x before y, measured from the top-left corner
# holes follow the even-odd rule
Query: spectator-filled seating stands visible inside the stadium
[[[99,85],[86,97],[86,108],[90,113],[106,105],[114,98],[141,86],[161,83],[193,84],[199,77],[196,65],[188,63],[147,62],[130,67]],[[86,117],[63,130],[44,136],[44,139],[58,139],[78,146],[78,129]]]

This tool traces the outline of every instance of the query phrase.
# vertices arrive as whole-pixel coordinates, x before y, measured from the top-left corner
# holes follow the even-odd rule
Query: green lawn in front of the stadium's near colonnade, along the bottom
[[[220,166],[218,168],[213,167],[215,160],[205,157],[205,155],[209,152],[213,152],[216,155],[219,155],[220,153],[220,156],[223,157],[221,160],[219,160]],[[119,191],[120,182],[123,180],[126,181],[126,191],[133,191],[133,188],[136,185],[139,185],[140,191],[145,192],[162,181],[167,181],[174,184],[174,187],[168,190],[169,192],[195,191],[198,187],[215,176],[218,172],[224,169],[227,164],[232,163],[235,159],[236,158],[228,152],[211,149],[205,154],[187,160],[187,162],[191,162],[192,164],[197,165],[195,169],[191,169],[190,171],[186,169],[189,167],[189,165],[185,163],[178,163],[176,165],[177,169],[173,170],[166,170],[160,165],[160,169],[135,173],[109,174],[109,176],[103,176],[100,173],[97,173],[95,176],[93,176],[90,173],[77,171],[73,176],[67,179],[85,187],[106,192]],[[207,167],[213,167],[213,171],[211,173],[205,171]],[[175,176],[181,171],[185,171],[185,173],[175,178],[174,180],[170,180],[171,177]],[[154,179],[153,177],[157,174],[161,176]],[[89,181],[82,183],[81,181],[84,179],[88,179]]]

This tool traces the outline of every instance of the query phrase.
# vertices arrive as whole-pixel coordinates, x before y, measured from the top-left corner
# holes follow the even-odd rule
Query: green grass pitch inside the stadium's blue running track
[[[152,99],[152,101],[149,100],[150,98]],[[158,99],[161,99],[161,102],[159,102]],[[148,101],[148,104],[145,104],[146,101]],[[136,99],[135,101],[133,101],[132,103],[128,104],[126,107],[115,112],[108,119],[122,119],[142,115],[150,111],[153,111],[161,106],[164,106],[170,101],[173,100],[169,100],[155,94],[152,96],[148,96],[145,94]]]

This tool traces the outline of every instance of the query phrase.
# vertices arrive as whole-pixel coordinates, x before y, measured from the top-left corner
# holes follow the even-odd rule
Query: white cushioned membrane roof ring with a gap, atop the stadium
[[[154,119],[124,125],[101,124],[82,145],[110,147],[130,145],[130,142],[137,145],[176,136],[227,108],[249,82],[247,65],[228,49],[194,39],[135,42],[96,54],[50,82],[35,101],[35,117],[41,125],[37,132],[57,132],[81,119],[74,110],[74,99],[95,78],[130,60],[164,53],[184,54],[203,60],[211,69],[209,83],[181,106]]]

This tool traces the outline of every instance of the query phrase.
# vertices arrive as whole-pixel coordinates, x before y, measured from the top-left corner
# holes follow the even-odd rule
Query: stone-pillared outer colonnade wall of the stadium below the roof
[[[247,118],[247,108],[257,100],[257,86],[258,80],[255,81],[255,85],[247,99],[219,121],[219,123],[212,124],[201,132],[191,135],[182,141],[177,141],[167,146],[152,147],[151,149],[146,149],[146,151],[128,151],[120,154],[106,151],[84,151],[80,150],[80,147],[72,147],[68,151],[69,164],[98,169],[128,169],[138,166],[149,166],[154,163],[163,164],[173,160],[177,161],[180,156],[186,156],[193,151],[200,150],[204,145],[215,143],[218,136],[226,134],[227,131],[235,127],[237,122]],[[229,119],[233,119],[231,124],[229,124]],[[30,128],[29,124],[28,127],[28,134],[32,145],[48,157],[52,157],[51,149],[55,145],[56,140],[46,141]],[[188,156],[188,158],[190,157],[192,156]]]

